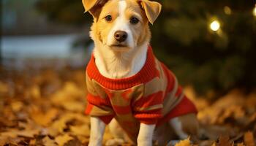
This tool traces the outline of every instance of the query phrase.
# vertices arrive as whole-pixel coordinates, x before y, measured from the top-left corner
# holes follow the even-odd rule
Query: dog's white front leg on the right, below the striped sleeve
[[[138,146],[151,146],[156,125],[148,125],[140,123],[140,131],[138,135]]]

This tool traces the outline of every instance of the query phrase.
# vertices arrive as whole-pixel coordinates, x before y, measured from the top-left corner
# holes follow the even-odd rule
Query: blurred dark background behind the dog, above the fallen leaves
[[[182,85],[208,96],[255,88],[255,1],[159,2],[151,45]],[[39,60],[84,68],[93,45],[92,18],[83,11],[80,0],[1,0],[2,66]]]

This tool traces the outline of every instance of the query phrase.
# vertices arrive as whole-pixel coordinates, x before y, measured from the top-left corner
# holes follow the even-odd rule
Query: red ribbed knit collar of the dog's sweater
[[[140,69],[140,72],[131,77],[121,79],[110,79],[108,77],[104,77],[97,69],[94,55],[91,55],[86,72],[91,80],[99,82],[99,84],[101,84],[103,87],[110,90],[124,90],[127,88],[132,88],[135,85],[146,83],[157,76],[156,63],[151,46],[148,46],[147,58],[143,68]]]

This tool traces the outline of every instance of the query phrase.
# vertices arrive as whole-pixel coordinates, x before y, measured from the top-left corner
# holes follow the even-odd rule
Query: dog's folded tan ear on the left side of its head
[[[100,10],[108,0],[82,0],[85,12],[90,12],[94,18],[98,18]]]

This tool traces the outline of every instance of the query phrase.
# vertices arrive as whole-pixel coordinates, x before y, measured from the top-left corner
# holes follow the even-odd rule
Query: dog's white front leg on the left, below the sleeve
[[[103,134],[105,131],[105,123],[97,117],[91,117],[91,132],[89,146],[102,145]]]

